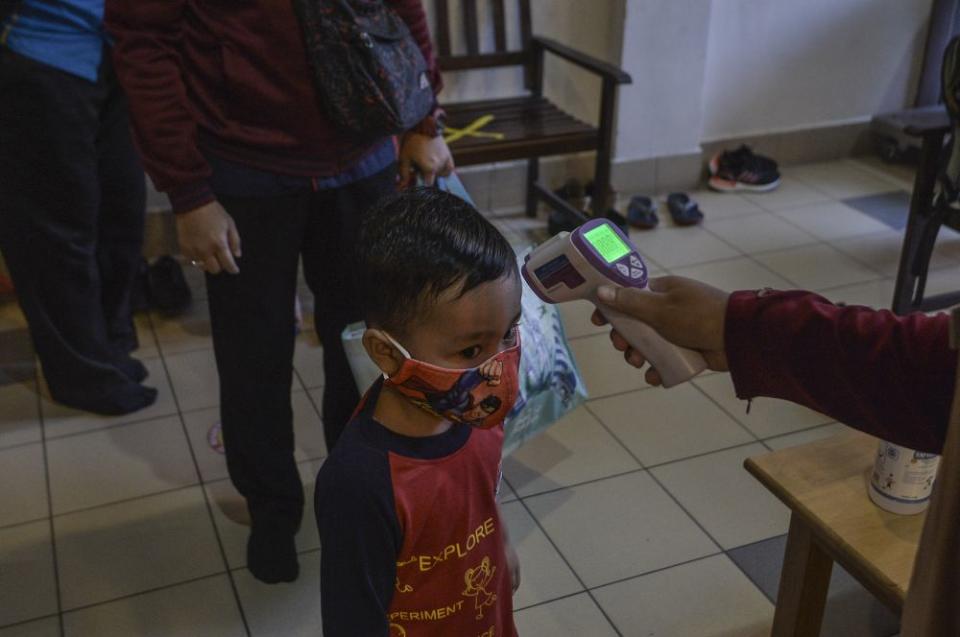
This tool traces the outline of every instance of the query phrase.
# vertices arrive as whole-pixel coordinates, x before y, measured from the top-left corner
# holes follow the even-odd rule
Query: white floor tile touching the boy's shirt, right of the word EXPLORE
[[[513,607],[524,608],[583,590],[573,571],[553,548],[520,502],[500,507],[520,559],[520,589]]]

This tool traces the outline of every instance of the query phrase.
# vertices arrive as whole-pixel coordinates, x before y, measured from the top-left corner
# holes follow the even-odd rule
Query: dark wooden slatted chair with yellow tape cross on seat
[[[557,197],[537,180],[540,158],[583,151],[596,151],[594,193],[607,193],[610,186],[610,156],[613,145],[614,106],[617,87],[629,84],[630,76],[621,69],[571,49],[554,40],[531,34],[530,1],[518,0],[520,33],[523,48],[507,50],[507,28],[504,0],[491,0],[494,25],[494,50],[480,51],[481,34],[476,0],[461,0],[462,16],[451,16],[447,0],[435,0],[433,34],[440,69],[446,72],[521,66],[528,95],[506,99],[479,100],[444,104],[447,126],[463,129],[484,115],[494,119],[483,127],[484,133],[494,136],[466,136],[452,143],[450,148],[458,166],[485,164],[515,159],[527,160],[528,216],[535,216],[537,203],[543,200],[552,208],[585,221],[584,214]],[[466,42],[466,53],[453,54],[450,49],[451,29],[461,28]],[[580,66],[602,80],[600,118],[596,126],[580,121],[564,112],[543,95],[543,64],[545,53],[550,53]],[[592,198],[592,212],[602,215],[606,197]]]

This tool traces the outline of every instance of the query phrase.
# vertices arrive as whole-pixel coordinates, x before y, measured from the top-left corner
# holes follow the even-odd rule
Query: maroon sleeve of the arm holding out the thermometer
[[[946,314],[900,317],[809,292],[735,292],[727,359],[740,398],[782,398],[939,453],[957,365],[949,323]]]

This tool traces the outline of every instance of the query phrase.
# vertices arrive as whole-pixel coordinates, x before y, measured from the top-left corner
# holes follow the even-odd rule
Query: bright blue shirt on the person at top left
[[[0,28],[0,44],[91,82],[103,55],[104,0],[23,0]]]

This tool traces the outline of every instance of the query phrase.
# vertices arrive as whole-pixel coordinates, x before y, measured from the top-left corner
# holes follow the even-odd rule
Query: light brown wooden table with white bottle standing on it
[[[820,634],[833,562],[901,612],[926,515],[870,501],[876,449],[876,438],[850,431],[744,463],[792,512],[772,637]]]

